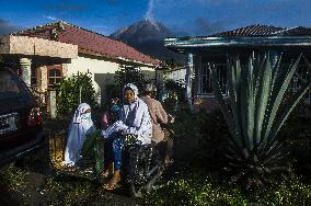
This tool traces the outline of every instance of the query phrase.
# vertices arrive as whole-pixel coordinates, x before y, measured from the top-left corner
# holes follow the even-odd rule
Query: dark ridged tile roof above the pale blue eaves
[[[276,27],[272,25],[250,25],[237,30],[221,32],[212,37],[230,37],[230,36],[311,36],[311,28],[297,26],[297,27]]]

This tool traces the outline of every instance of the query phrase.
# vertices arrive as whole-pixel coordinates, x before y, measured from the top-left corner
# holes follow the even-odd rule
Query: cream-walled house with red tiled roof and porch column
[[[62,21],[2,36],[0,55],[42,92],[64,77],[89,71],[99,96],[105,96],[120,66],[140,68],[147,79],[156,79],[160,65],[122,42]]]

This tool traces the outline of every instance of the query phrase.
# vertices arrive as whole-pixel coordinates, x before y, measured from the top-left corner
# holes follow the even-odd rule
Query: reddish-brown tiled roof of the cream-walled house
[[[57,34],[57,36],[54,34]],[[66,22],[56,22],[43,26],[36,26],[34,28],[13,33],[12,35],[55,39],[62,43],[78,45],[78,52],[80,54],[103,56],[113,59],[125,59],[153,66],[158,66],[160,62],[159,60],[139,53],[135,48],[122,42],[111,39],[104,35]]]

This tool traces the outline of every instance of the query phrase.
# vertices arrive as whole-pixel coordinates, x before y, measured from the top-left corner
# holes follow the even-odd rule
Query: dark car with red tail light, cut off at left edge
[[[27,85],[0,66],[0,165],[44,145],[43,117]]]

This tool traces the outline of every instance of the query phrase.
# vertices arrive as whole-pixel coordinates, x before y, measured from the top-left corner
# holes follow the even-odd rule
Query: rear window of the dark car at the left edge
[[[19,80],[12,73],[0,70],[0,99],[12,98],[20,94]]]

